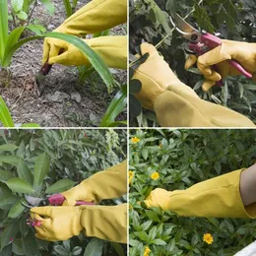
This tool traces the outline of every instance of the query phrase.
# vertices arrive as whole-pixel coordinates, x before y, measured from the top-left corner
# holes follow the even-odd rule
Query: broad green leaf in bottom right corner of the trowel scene
[[[123,87],[112,99],[100,123],[100,127],[109,127],[127,104],[127,87]]]

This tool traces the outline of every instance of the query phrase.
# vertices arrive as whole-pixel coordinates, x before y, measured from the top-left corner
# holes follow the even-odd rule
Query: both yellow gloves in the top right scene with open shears
[[[149,43],[141,45],[142,55],[150,57],[134,74],[133,79],[142,82],[137,96],[147,109],[154,110],[160,126],[165,127],[255,127],[247,117],[224,106],[201,99],[185,84],[181,83]],[[256,72],[256,44],[223,40],[223,44],[197,58],[189,56],[185,68],[195,62],[205,76],[203,89],[208,91],[217,81],[227,75],[239,75],[225,60],[238,61],[250,73]],[[211,66],[217,65],[220,73]]]

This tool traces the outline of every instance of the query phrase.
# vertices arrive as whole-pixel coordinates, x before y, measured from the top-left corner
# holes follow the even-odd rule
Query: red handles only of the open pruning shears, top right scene
[[[189,48],[191,50],[193,50],[194,52],[196,52],[197,55],[203,55],[204,53],[207,52],[207,50],[209,50],[209,49],[212,50],[212,49],[222,45],[222,43],[223,43],[223,41],[221,38],[215,36],[212,33],[205,32],[201,36],[201,42],[198,42],[197,44],[190,43]],[[203,44],[205,44],[207,46],[205,49],[204,49],[204,46],[202,46]],[[233,59],[227,60],[227,62],[230,66],[235,68],[239,73],[244,75],[246,78],[250,78],[250,79],[252,78],[252,74],[250,74],[248,71],[246,71],[239,62],[237,62]]]

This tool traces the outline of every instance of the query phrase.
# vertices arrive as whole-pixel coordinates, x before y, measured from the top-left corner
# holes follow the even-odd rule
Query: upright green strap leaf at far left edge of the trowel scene
[[[6,0],[0,0],[0,60],[3,62],[8,36],[8,6]],[[2,108],[2,107],[1,107]]]

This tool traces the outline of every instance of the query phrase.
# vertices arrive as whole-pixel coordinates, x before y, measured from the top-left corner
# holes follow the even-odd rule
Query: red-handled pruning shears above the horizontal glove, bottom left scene
[[[37,198],[37,197],[32,197],[32,196],[28,196],[25,195],[25,199],[27,200],[27,202],[32,206],[62,206],[65,197],[61,194],[55,194],[52,196],[48,196],[46,199],[44,198]],[[76,206],[82,206],[82,205],[95,205],[95,203],[92,202],[85,202],[85,201],[77,201]],[[27,205],[26,205],[27,206]],[[27,206],[28,207],[28,206]],[[30,207],[30,208],[32,208]]]

